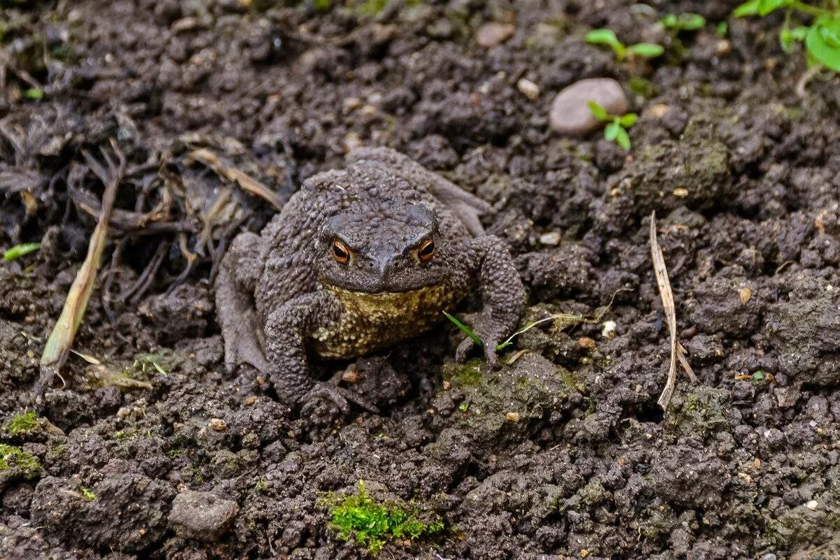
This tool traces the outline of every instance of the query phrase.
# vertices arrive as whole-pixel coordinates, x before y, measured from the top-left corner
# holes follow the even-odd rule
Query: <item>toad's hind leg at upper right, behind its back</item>
[[[359,148],[351,151],[347,160],[384,164],[390,172],[406,179],[417,188],[427,187],[434,198],[458,216],[458,219],[470,231],[470,235],[473,237],[484,235],[479,216],[490,211],[490,204],[474,194],[467,193],[454,182],[428,171],[416,161],[412,161],[410,157],[390,148]]]

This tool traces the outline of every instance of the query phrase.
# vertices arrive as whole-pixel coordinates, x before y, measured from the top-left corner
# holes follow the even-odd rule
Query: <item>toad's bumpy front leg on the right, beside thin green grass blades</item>
[[[487,362],[497,367],[496,346],[517,328],[525,309],[525,288],[507,245],[496,235],[465,241],[462,255],[459,281],[477,281],[484,301],[479,319],[471,328],[484,343]],[[472,345],[472,339],[466,337],[455,358],[462,362]]]

